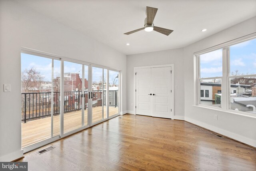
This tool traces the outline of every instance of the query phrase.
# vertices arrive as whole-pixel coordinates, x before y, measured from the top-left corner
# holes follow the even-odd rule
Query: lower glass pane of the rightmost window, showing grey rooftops
[[[256,77],[230,79],[230,109],[256,114]]]

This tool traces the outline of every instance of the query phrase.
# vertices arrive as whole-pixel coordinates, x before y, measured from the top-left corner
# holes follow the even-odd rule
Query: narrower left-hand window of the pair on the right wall
[[[222,85],[222,49],[208,52],[197,57],[200,63],[198,72],[200,82],[199,103],[221,107],[221,93],[218,90],[221,89]],[[216,96],[218,97],[218,103],[216,102]]]

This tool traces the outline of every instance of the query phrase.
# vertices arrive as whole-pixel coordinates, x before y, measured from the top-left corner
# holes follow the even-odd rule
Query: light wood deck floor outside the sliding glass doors
[[[106,118],[104,107],[104,119]],[[84,125],[88,125],[88,110],[84,111]],[[109,106],[109,116],[118,113],[118,107]],[[60,135],[60,115],[53,117],[53,136]],[[102,107],[92,108],[92,122],[102,120]],[[64,133],[82,127],[81,111],[64,113]],[[22,148],[49,139],[51,137],[51,117],[22,123]]]

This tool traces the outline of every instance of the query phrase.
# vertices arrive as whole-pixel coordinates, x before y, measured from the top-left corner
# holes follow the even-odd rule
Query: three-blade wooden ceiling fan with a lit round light
[[[138,32],[140,30],[145,30],[146,32],[151,32],[151,31],[154,30],[156,32],[159,32],[159,33],[162,33],[166,36],[169,36],[169,34],[171,34],[173,32],[173,30],[157,27],[157,26],[154,26],[154,24],[153,24],[153,21],[154,21],[154,18],[156,16],[157,10],[158,10],[158,8],[152,8],[152,7],[147,6],[147,9],[146,9],[147,18],[145,18],[144,27],[139,28],[137,30],[133,30],[131,32],[124,33],[124,34],[129,35],[129,34]]]

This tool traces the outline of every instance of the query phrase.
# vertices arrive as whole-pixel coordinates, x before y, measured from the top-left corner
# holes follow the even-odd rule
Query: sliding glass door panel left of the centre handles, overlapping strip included
[[[64,133],[68,133],[88,125],[88,66],[64,61],[63,80]]]

